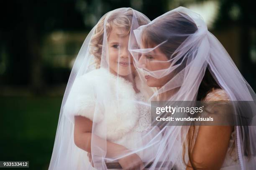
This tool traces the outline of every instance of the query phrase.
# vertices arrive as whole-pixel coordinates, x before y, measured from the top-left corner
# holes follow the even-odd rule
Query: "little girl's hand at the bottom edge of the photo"
[[[118,160],[123,170],[143,170],[144,165],[141,158],[133,153]]]

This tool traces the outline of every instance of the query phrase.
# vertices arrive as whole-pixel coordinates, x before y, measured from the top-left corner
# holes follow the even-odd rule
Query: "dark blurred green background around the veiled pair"
[[[0,161],[48,169],[74,59],[100,17],[118,7],[151,20],[179,6],[200,13],[256,90],[256,9],[249,0],[13,0],[0,6]]]

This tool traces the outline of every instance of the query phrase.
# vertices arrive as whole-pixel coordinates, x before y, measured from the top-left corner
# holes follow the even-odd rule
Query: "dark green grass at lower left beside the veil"
[[[61,100],[62,97],[0,97],[0,161],[29,161],[29,169],[47,170]]]

